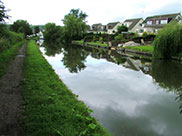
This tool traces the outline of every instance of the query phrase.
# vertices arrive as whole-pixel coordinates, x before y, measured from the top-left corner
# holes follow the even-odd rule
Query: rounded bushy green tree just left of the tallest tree
[[[61,46],[64,42],[64,29],[61,26],[56,26],[54,23],[48,23],[45,25],[43,32],[44,43],[46,46],[52,48]]]

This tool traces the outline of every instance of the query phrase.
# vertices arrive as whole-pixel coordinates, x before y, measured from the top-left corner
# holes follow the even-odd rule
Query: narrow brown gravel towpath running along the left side
[[[26,45],[20,49],[5,76],[0,80],[0,136],[21,136],[21,79]]]

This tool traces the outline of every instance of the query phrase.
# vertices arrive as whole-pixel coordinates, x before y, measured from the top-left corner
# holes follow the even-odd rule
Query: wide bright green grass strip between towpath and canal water
[[[92,110],[59,79],[33,41],[27,47],[23,75],[26,135],[109,135],[90,116]]]

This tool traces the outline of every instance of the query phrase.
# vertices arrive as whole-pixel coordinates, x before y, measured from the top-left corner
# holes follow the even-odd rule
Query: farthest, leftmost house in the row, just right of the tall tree
[[[102,25],[101,23],[98,24],[93,24],[90,27],[89,32],[93,32],[93,33],[106,33],[106,26]]]

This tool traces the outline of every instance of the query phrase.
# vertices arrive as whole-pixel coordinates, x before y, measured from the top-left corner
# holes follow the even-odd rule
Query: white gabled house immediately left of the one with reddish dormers
[[[127,19],[124,21],[124,25],[128,27],[129,32],[143,33],[143,18]]]

